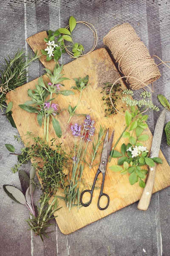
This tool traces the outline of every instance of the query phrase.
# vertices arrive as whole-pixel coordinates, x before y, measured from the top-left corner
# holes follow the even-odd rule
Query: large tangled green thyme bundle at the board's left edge
[[[16,140],[21,139],[14,136]],[[37,170],[38,175],[42,179],[42,191],[46,194],[54,195],[59,188],[66,189],[66,175],[64,169],[70,158],[61,148],[61,144],[54,144],[56,139],[51,140],[51,146],[45,143],[40,137],[35,137],[31,133],[27,133],[29,142],[24,141],[27,145],[21,149],[21,153],[15,153],[15,148],[11,144],[6,144],[6,148],[10,154],[17,155],[18,162],[11,168],[12,172],[17,172],[23,164],[28,160],[32,161],[32,165]]]

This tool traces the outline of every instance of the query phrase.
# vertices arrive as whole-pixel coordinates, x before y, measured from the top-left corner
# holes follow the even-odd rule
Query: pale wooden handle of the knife
[[[153,184],[155,180],[156,174],[156,163],[155,166],[149,166],[149,173],[147,175],[146,186],[143,189],[142,196],[139,200],[138,209],[142,211],[146,211],[150,204],[150,199],[153,190]]]

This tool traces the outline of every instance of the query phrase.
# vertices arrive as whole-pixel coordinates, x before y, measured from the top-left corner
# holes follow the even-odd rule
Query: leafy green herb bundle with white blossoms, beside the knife
[[[122,94],[127,95],[127,97],[122,97],[122,102],[125,102],[126,106],[129,107],[129,111],[126,110],[125,112],[125,121],[127,126],[111,151],[111,157],[120,157],[118,165],[113,165],[109,168],[113,172],[120,172],[122,175],[129,173],[130,184],[133,185],[139,181],[139,186],[144,188],[145,183],[142,179],[146,178],[147,170],[142,169],[141,166],[147,164],[148,166],[153,167],[155,165],[154,162],[162,163],[162,160],[159,157],[153,157],[152,159],[148,157],[148,150],[141,143],[142,141],[149,139],[147,134],[143,134],[144,129],[148,127],[145,123],[148,116],[143,115],[143,113],[148,109],[159,111],[159,108],[156,107],[156,105],[153,105],[150,99],[146,100],[146,98],[151,97],[151,94],[148,92],[141,93],[141,97],[143,97],[143,99],[139,101],[130,99],[129,95],[133,95],[132,90],[126,89]],[[135,106],[138,106],[138,109],[135,108]],[[119,152],[114,150],[114,148],[121,137],[128,138],[129,143],[127,143],[127,145],[123,143],[121,146],[121,152]]]

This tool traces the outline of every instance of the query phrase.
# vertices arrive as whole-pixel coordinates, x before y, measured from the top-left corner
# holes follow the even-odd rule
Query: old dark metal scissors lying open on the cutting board
[[[99,175],[100,172],[102,172],[102,175],[103,175],[103,179],[102,179],[102,186],[101,186],[101,190],[100,190],[100,195],[99,195],[99,199],[98,199],[98,203],[97,203],[97,207],[100,209],[100,210],[105,210],[106,208],[108,208],[108,205],[109,205],[109,202],[110,202],[110,198],[107,194],[103,193],[103,186],[104,186],[104,182],[105,182],[105,172],[106,172],[106,165],[107,165],[107,162],[108,162],[108,157],[109,157],[109,154],[111,152],[111,146],[112,146],[112,143],[113,143],[113,136],[114,136],[114,130],[112,132],[112,135],[111,135],[111,138],[110,140],[108,141],[108,136],[109,136],[109,128],[106,132],[106,136],[105,136],[105,140],[104,140],[104,144],[103,144],[103,149],[102,149],[102,155],[101,155],[101,160],[100,160],[100,164],[99,164],[99,168],[96,172],[96,176],[94,178],[94,183],[93,183],[93,186],[91,188],[91,190],[84,190],[81,194],[81,197],[80,197],[80,202],[82,204],[82,206],[84,207],[87,207],[91,204],[91,201],[92,201],[92,197],[93,197],[93,192],[94,192],[94,186],[95,186],[95,183],[96,183],[96,180],[97,180],[97,177]],[[86,192],[89,192],[91,194],[91,198],[90,198],[90,201],[87,203],[87,204],[84,204],[82,202],[82,196],[86,193]],[[107,198],[108,198],[108,204],[106,205],[105,208],[101,208],[99,206],[99,202],[100,202],[100,198],[105,195]]]

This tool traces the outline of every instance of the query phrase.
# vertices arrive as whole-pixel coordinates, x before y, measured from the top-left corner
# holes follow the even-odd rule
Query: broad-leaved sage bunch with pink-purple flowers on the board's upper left
[[[64,86],[63,84],[61,84],[61,82],[64,80],[68,80],[68,78],[62,77],[62,68],[63,65],[60,67],[59,64],[57,64],[54,67],[53,73],[51,72],[51,70],[45,68],[45,71],[47,72],[46,75],[48,76],[50,82],[44,82],[42,76],[40,76],[40,78],[38,79],[38,84],[36,85],[36,89],[28,89],[28,96],[31,98],[31,101],[27,101],[24,104],[19,105],[20,108],[24,109],[29,113],[37,113],[38,124],[41,127],[43,122],[44,125],[43,140],[46,140],[47,142],[50,117],[52,119],[53,128],[57,137],[60,138],[62,136],[60,124],[55,118],[55,116],[59,114],[59,105],[52,103],[52,101],[55,99],[52,98],[53,94],[56,96],[58,94],[62,94],[64,96],[74,94],[74,92],[72,92],[71,90],[60,90],[60,87]],[[50,96],[49,99],[47,99],[48,96]]]

